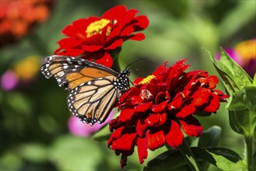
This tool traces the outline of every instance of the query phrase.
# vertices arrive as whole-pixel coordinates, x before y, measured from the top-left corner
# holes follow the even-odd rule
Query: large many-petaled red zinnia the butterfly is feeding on
[[[219,79],[205,71],[184,72],[185,60],[166,68],[161,65],[146,79],[139,78],[120,99],[120,116],[110,121],[107,145],[121,153],[121,168],[137,145],[139,161],[147,158],[147,149],[165,143],[181,145],[184,135],[198,137],[202,125],[192,115],[209,116],[228,96],[215,89]]]

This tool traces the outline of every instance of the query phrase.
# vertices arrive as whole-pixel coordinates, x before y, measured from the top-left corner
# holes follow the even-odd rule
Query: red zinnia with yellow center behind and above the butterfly
[[[90,16],[78,19],[62,31],[67,38],[58,41],[59,48],[54,54],[81,56],[87,60],[111,67],[110,52],[121,47],[124,40],[143,40],[144,30],[149,25],[146,16],[135,16],[135,9],[127,10],[117,5],[101,17]]]

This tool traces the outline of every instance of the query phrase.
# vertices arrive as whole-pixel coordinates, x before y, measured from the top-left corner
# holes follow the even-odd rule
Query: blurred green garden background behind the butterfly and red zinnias
[[[146,77],[165,61],[172,65],[183,58],[191,65],[188,71],[205,69],[218,75],[202,47],[217,54],[219,47],[233,48],[256,37],[254,0],[0,2],[0,170],[120,169],[121,156],[107,148],[107,141],[95,141],[91,127],[71,117],[68,92],[40,73],[44,57],[53,54],[56,42],[65,37],[61,30],[75,19],[101,16],[120,4],[148,16],[146,40],[124,42],[119,56],[121,68],[136,58],[149,59],[146,65],[132,65],[140,72],[133,72],[131,80]],[[221,83],[218,88],[224,90]],[[205,129],[222,127],[219,145],[242,155],[244,142],[230,129],[224,106],[211,117],[198,119]],[[124,170],[142,169],[165,150],[149,152],[143,165],[135,152]]]

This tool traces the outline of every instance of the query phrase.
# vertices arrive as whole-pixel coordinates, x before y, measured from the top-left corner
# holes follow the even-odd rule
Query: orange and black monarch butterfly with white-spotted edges
[[[58,86],[68,89],[69,110],[91,125],[103,123],[119,96],[129,88],[128,68],[118,73],[82,58],[49,56],[41,72],[47,79],[53,75]]]

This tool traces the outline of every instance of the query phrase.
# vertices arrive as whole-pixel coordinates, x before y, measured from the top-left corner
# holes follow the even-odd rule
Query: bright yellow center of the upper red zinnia
[[[90,23],[89,26],[87,26],[86,29],[86,37],[92,37],[96,33],[102,33],[102,30],[107,24],[110,23],[109,19],[100,19],[99,21],[95,21],[93,23]],[[110,35],[111,27],[107,27],[107,33],[106,36]]]

